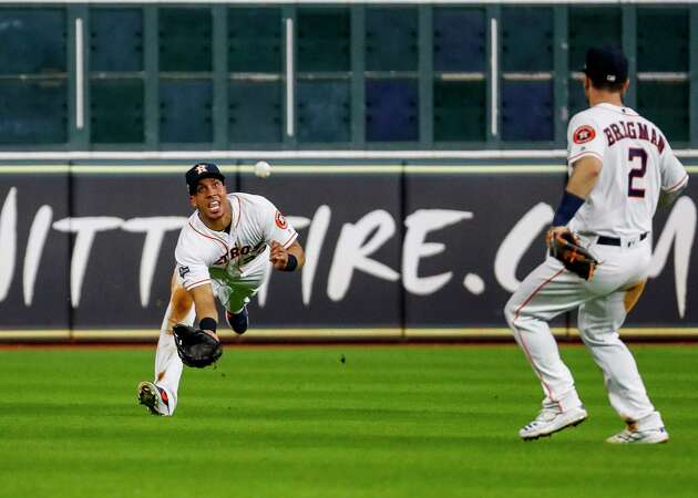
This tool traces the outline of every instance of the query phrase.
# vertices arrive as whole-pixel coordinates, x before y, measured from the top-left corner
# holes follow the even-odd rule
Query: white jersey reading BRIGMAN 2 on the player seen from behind
[[[629,107],[608,103],[576,114],[567,131],[569,174],[581,157],[604,167],[569,228],[579,234],[634,237],[651,231],[660,189],[685,187],[688,175],[651,122]]]

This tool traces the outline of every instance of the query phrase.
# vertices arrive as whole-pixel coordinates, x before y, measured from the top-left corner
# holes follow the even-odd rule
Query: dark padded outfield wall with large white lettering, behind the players
[[[0,165],[0,338],[155,338],[191,162]],[[219,160],[228,189],[269,197],[300,232],[302,274],[274,272],[254,339],[506,336],[502,308],[544,256],[560,160]],[[695,166],[690,167],[692,173]],[[698,335],[696,181],[656,217],[635,335]],[[574,317],[554,325],[574,333]]]

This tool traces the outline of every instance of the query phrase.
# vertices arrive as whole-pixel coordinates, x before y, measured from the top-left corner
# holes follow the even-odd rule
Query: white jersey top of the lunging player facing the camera
[[[271,241],[288,248],[298,237],[281,212],[266,198],[235,193],[229,234],[207,228],[195,211],[183,227],[175,249],[177,276],[186,290],[211,283],[228,283],[252,268],[266,264]]]

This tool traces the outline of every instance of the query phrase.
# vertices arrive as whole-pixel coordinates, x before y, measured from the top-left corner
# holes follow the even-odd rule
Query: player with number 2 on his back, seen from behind
[[[618,336],[637,302],[651,259],[651,220],[688,183],[659,128],[623,105],[627,60],[614,49],[586,54],[589,107],[567,131],[569,178],[546,240],[571,238],[597,260],[581,276],[547,257],[506,303],[504,313],[543,386],[543,409],[519,435],[550,436],[587,417],[547,322],[578,309],[584,344],[604,373],[610,405],[627,427],[608,443],[664,443],[669,435],[649,401],[635,360]],[[584,249],[582,249],[584,251]],[[579,251],[573,250],[569,261]]]

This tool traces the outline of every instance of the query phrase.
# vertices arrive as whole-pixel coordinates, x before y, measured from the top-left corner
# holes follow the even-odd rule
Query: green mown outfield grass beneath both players
[[[589,419],[532,443],[541,392],[511,345],[227,347],[172,418],[136,405],[153,351],[0,351],[0,496],[696,496],[698,347],[632,349],[667,445],[604,443],[623,424],[579,346]]]

